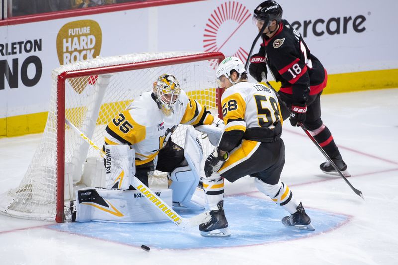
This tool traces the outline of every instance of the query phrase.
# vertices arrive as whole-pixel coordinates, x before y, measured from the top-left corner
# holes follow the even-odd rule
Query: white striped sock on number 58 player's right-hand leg
[[[258,178],[254,178],[254,184],[260,192],[270,197],[276,204],[284,208],[290,214],[296,212],[298,203],[293,198],[292,191],[287,185],[281,182],[281,180],[279,180],[276,185],[270,185]]]

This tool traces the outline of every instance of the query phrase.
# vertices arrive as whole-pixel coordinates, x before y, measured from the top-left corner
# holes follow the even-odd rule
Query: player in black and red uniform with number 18
[[[282,19],[282,7],[275,1],[261,3],[254,10],[253,21],[259,31],[265,23],[260,51],[250,58],[249,73],[258,82],[267,76],[267,65],[277,82],[278,92],[288,108],[281,105],[282,117],[290,116],[292,126],[298,122],[314,136],[344,176],[350,174],[333,136],[321,119],[320,96],[327,83],[327,72],[321,62],[311,54],[302,36]],[[328,174],[337,174],[326,161],[320,169]]]

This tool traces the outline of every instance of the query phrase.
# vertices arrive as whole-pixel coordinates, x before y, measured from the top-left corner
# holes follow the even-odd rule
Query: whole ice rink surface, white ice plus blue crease
[[[201,238],[195,229],[185,231],[162,223],[147,233],[146,229],[141,231],[142,242],[131,243],[131,225],[106,224],[105,228],[103,223],[79,224],[81,228],[91,226],[92,234],[84,234],[81,232],[90,231],[85,228],[79,232],[78,225],[71,230],[71,224],[0,215],[0,264],[396,265],[397,109],[398,89],[322,96],[322,119],[353,175],[348,180],[363,192],[365,201],[341,177],[323,174],[319,170],[324,162],[322,154],[300,128],[284,124],[286,164],[282,181],[302,200],[314,225],[320,228],[311,236],[307,236],[310,232],[303,235],[285,229],[278,220],[284,212],[256,191],[253,179],[245,177],[225,186],[230,242]],[[0,193],[19,184],[39,141],[40,135],[0,139]],[[243,205],[235,207],[239,200]],[[241,218],[238,212],[242,209]],[[328,214],[331,223],[322,223]],[[245,225],[245,233],[256,234],[252,239],[244,235]],[[323,229],[327,225],[330,229]],[[170,231],[165,233],[165,227]],[[159,244],[161,238],[170,245]],[[245,240],[252,244],[241,246],[246,245]],[[233,241],[236,245],[231,246]],[[186,246],[192,242],[194,247]],[[139,248],[141,244],[153,247],[145,252]]]

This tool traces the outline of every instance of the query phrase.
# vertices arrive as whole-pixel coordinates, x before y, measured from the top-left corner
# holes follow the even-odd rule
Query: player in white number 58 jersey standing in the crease
[[[290,213],[287,227],[314,230],[311,219],[289,187],[281,182],[285,147],[282,119],[275,93],[266,86],[247,82],[244,64],[228,57],[216,72],[222,94],[225,128],[218,147],[204,162],[203,187],[211,219],[199,225],[201,235],[229,236],[223,209],[224,178],[230,182],[250,175],[259,191]]]

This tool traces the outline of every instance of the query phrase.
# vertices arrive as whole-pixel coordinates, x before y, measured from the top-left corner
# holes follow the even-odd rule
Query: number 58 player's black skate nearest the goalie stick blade
[[[203,237],[229,237],[228,221],[224,212],[224,201],[218,203],[218,210],[210,211],[210,220],[199,225]]]

